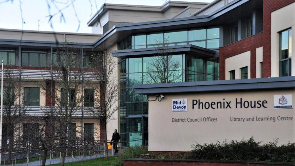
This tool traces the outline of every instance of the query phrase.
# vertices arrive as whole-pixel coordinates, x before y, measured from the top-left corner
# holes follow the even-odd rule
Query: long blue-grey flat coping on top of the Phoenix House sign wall
[[[134,85],[135,94],[171,94],[295,88],[295,76]]]

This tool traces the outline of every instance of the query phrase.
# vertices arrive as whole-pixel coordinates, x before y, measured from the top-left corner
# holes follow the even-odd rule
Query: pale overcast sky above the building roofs
[[[6,2],[8,1],[8,2]],[[47,1],[51,3],[52,0],[20,0],[22,3],[22,16],[25,24],[24,30],[39,30],[42,31],[58,31],[58,32],[81,32],[91,33],[91,27],[87,27],[86,22],[104,3],[110,4],[135,4],[135,5],[151,5],[160,6],[165,3],[165,0],[55,0],[58,9],[63,9],[65,6],[74,1],[76,14],[80,20],[80,27],[78,19],[75,17],[75,10],[72,5],[64,9],[62,12],[65,17],[65,22],[60,21],[60,14],[53,17],[53,29],[48,23],[49,10],[47,8]],[[192,1],[192,2],[212,2],[213,0],[177,0],[177,1]],[[90,3],[91,2],[91,3]],[[92,4],[92,7],[91,7]],[[50,5],[51,14],[58,10],[53,4]],[[91,15],[92,8],[92,15]],[[20,12],[19,0],[0,0],[0,28],[8,29],[22,29],[22,19]],[[78,28],[79,27],[79,28]]]

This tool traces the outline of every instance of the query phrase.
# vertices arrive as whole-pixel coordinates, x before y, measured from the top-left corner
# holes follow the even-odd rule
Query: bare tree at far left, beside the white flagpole
[[[2,135],[4,137],[2,146],[7,147],[8,161],[10,161],[12,160],[11,153],[15,148],[19,148],[19,142],[21,141],[20,123],[22,117],[26,115],[26,109],[22,104],[22,100],[19,100],[23,96],[19,87],[19,73],[16,73],[12,66],[7,65],[4,68],[3,76],[3,123],[5,130]],[[18,135],[15,136],[15,133],[18,133]]]

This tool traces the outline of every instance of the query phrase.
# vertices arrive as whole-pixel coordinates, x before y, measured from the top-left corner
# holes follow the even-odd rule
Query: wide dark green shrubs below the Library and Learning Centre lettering
[[[253,137],[241,141],[224,140],[216,144],[192,145],[191,159],[196,160],[253,160],[295,162],[295,143],[278,146],[278,139],[268,144],[255,142]]]

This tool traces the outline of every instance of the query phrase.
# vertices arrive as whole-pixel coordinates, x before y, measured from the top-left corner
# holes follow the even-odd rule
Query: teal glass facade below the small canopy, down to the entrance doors
[[[218,79],[218,58],[197,58],[194,55],[180,54],[121,59],[119,61],[121,141],[132,140],[136,134],[146,139],[142,144],[148,144],[148,99],[146,95],[135,94],[133,85]]]

